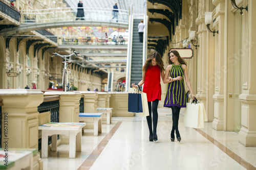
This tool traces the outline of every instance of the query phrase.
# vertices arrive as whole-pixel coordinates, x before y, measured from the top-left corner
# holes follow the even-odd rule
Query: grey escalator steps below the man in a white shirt
[[[133,21],[133,49],[131,63],[131,83],[138,84],[142,80],[143,43],[139,40],[138,25],[141,19]]]

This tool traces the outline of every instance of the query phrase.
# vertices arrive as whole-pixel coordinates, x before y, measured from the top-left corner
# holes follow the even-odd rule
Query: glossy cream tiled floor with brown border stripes
[[[112,124],[102,124],[102,134],[93,130],[82,135],[82,152],[69,159],[69,145],[42,159],[44,169],[256,169],[256,148],[238,142],[238,133],[215,131],[211,123],[204,129],[183,126],[181,143],[170,141],[170,109],[159,109],[158,142],[148,141],[145,118],[113,117]]]

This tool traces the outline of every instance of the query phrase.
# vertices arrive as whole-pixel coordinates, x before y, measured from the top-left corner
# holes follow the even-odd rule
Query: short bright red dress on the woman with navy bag
[[[156,99],[161,100],[160,76],[161,71],[158,65],[147,68],[142,91],[146,93],[148,102],[155,101]]]

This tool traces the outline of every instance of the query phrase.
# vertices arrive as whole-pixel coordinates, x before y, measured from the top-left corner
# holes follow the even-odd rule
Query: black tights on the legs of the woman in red
[[[152,109],[151,109],[151,102],[147,102],[148,104],[148,111],[150,112],[149,116],[146,116],[147,126],[150,130],[150,135],[157,134],[157,120],[158,120],[158,113],[157,113],[157,106],[159,100],[155,100],[152,102]],[[152,118],[153,112],[153,118]],[[152,119],[153,119],[153,131],[152,131]]]

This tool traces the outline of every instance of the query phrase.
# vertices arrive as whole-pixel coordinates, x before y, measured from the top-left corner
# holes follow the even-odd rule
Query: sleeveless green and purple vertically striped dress
[[[174,82],[170,82],[168,84],[164,107],[178,106],[178,107],[186,107],[186,94],[185,94],[185,86],[184,86],[184,69],[179,65],[172,65],[170,68],[169,76],[172,78],[176,78],[178,76],[182,77],[182,80],[177,80]]]

